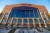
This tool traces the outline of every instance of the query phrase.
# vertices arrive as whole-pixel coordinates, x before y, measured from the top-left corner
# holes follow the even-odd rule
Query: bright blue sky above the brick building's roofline
[[[18,3],[31,3],[37,5],[44,5],[50,13],[50,0],[0,0],[0,12],[2,12],[5,5],[18,4]]]

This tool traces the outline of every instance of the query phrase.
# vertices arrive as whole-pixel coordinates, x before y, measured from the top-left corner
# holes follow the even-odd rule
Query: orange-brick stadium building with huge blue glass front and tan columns
[[[23,33],[26,33],[24,31],[26,30],[28,33],[28,30],[50,26],[50,15],[43,5],[27,3],[6,5],[2,13],[0,27],[11,26],[12,29],[15,28],[14,30],[21,29]]]

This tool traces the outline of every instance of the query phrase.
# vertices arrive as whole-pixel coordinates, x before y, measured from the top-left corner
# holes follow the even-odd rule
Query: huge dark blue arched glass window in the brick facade
[[[13,18],[39,18],[39,10],[35,7],[20,6],[14,7],[10,13]]]

